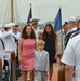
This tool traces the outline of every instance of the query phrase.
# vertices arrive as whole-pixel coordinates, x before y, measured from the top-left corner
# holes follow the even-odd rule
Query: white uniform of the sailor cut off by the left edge
[[[2,36],[2,31],[0,31],[0,57],[2,58],[2,67],[4,65],[4,45],[3,45],[3,36]]]

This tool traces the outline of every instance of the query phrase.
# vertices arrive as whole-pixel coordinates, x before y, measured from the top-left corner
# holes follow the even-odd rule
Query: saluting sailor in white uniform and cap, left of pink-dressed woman
[[[14,51],[16,54],[16,43],[13,35],[13,28],[11,24],[4,26],[5,31],[3,32],[3,42],[5,46],[4,59],[9,63],[10,76],[11,76],[11,52]]]

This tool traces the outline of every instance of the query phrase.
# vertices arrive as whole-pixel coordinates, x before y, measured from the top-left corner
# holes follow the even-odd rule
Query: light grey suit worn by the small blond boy
[[[35,51],[35,79],[45,81],[45,71],[49,70],[49,53],[46,51]]]

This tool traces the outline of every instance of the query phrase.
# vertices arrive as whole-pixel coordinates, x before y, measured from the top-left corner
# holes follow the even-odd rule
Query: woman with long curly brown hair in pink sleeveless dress
[[[26,25],[22,31],[18,45],[18,59],[23,79],[27,81],[27,72],[30,72],[30,81],[34,81],[34,59],[35,59],[36,36],[30,25]]]

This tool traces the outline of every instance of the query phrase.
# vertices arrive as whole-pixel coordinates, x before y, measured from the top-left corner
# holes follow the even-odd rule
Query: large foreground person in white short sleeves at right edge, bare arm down
[[[66,81],[72,81],[74,69],[76,81],[80,81],[80,33],[69,40],[62,63],[65,64]]]

